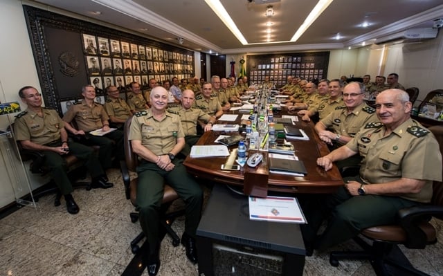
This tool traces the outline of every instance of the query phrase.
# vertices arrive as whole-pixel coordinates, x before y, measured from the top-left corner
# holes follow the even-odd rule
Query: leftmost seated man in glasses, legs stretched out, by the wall
[[[92,178],[91,187],[107,189],[114,185],[105,181],[105,172],[93,154],[93,149],[68,140],[64,122],[57,111],[42,107],[42,95],[37,89],[24,86],[20,89],[19,96],[28,105],[28,109],[19,113],[15,119],[15,138],[24,149],[44,153],[45,163],[51,169],[51,177],[66,200],[66,209],[70,214],[77,214],[80,209],[71,195],[73,188],[66,175],[66,163],[62,156],[73,154],[78,159],[85,160],[85,166]]]

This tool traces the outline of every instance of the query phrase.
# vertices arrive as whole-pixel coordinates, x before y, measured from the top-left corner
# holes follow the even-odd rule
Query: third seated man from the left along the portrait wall
[[[109,127],[123,130],[127,118],[132,115],[131,109],[125,100],[119,97],[120,93],[116,86],[108,86],[106,92],[108,94],[108,99],[103,107],[109,116]]]

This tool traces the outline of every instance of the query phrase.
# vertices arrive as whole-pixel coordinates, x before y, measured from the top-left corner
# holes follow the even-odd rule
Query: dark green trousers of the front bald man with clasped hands
[[[136,208],[140,214],[140,224],[145,232],[150,250],[159,245],[159,210],[163,199],[163,186],[170,185],[186,203],[185,232],[195,237],[201,217],[203,192],[199,184],[186,172],[183,160],[175,158],[175,167],[170,172],[152,162],[143,160],[137,167],[138,186]]]

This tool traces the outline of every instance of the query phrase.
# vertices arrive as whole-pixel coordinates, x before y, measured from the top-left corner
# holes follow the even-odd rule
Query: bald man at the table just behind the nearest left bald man
[[[211,127],[217,120],[215,116],[209,116],[201,109],[192,108],[194,104],[194,92],[190,89],[183,91],[181,95],[181,105],[179,107],[171,107],[168,109],[171,113],[175,113],[180,116],[183,132],[185,133],[185,147],[181,151],[181,154],[188,156],[192,145],[201,137],[197,135],[197,124],[200,124],[201,129],[204,131],[210,131]]]

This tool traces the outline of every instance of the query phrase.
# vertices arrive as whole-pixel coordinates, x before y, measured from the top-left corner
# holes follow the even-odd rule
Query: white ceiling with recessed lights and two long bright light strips
[[[220,0],[246,38],[242,45],[204,0],[36,0],[93,21],[126,28],[139,35],[208,53],[268,53],[325,50],[372,44],[392,33],[433,26],[443,17],[443,0],[334,0],[296,42],[289,41],[305,21],[314,0]],[[267,2],[267,3],[266,3]],[[274,16],[265,17],[271,3]],[[100,15],[95,12],[100,12]],[[272,21],[271,44],[266,22]],[[369,26],[363,27],[363,23]],[[335,39],[339,33],[341,39]]]

